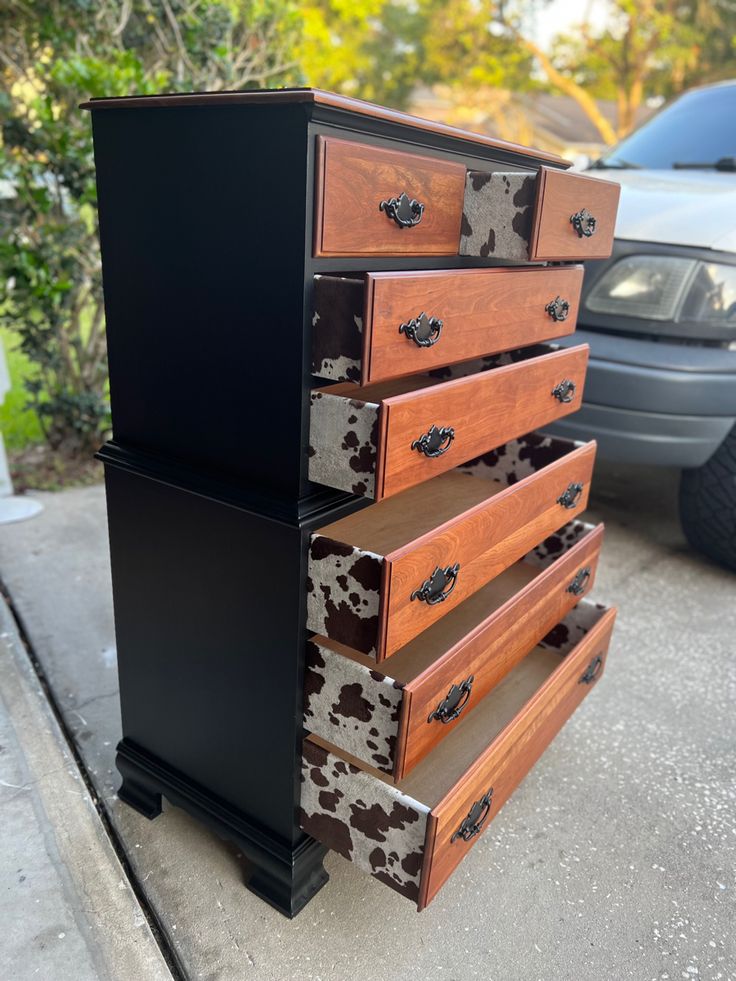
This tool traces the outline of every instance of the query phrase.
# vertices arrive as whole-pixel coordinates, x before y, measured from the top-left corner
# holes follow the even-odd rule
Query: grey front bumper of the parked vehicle
[[[699,467],[736,425],[736,351],[602,334],[590,345],[583,407],[549,432],[598,441],[602,457]]]

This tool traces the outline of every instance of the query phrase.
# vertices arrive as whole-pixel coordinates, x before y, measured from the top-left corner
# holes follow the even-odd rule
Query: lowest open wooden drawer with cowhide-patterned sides
[[[309,736],[302,828],[423,909],[595,686],[614,618],[583,600],[399,784]]]

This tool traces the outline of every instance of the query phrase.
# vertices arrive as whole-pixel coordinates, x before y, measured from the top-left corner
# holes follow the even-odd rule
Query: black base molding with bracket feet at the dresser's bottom
[[[284,916],[296,916],[328,881],[322,864],[327,848],[314,838],[305,835],[290,847],[130,740],[118,744],[115,763],[123,778],[120,800],[153,820],[165,797],[219,838],[234,842],[252,866],[246,887]]]

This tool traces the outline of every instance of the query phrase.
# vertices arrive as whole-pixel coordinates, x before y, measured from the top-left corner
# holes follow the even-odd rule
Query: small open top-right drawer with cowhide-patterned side
[[[540,167],[537,174],[469,171],[460,255],[550,261],[611,254],[620,187]]]

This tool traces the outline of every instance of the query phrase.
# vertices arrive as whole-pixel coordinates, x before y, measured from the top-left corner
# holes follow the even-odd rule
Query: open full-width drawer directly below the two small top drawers
[[[317,276],[312,373],[361,385],[571,334],[582,266]]]

